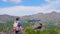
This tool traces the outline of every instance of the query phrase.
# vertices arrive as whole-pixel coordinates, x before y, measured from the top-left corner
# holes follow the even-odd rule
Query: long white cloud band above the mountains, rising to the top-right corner
[[[9,14],[15,16],[32,15],[39,12],[49,13],[52,11],[60,12],[60,0],[45,0],[44,6],[14,6],[8,8],[0,8],[0,14]]]

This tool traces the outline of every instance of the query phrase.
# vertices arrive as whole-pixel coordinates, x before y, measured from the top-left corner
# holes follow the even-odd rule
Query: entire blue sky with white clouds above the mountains
[[[13,16],[60,12],[60,0],[0,0],[0,14]]]

